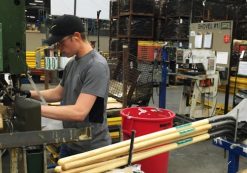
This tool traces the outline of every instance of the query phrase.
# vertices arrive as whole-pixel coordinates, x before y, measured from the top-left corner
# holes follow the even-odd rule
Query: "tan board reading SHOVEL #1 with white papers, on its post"
[[[199,22],[190,24],[189,48],[215,51],[221,85],[225,85],[224,113],[228,112],[233,38],[233,21]]]

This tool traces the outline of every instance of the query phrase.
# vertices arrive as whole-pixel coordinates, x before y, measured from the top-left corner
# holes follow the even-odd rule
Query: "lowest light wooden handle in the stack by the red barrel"
[[[191,144],[194,144],[194,143],[197,143],[197,142],[200,142],[200,141],[207,140],[209,138],[210,138],[210,135],[207,133],[207,134],[203,134],[203,135],[200,135],[200,136],[196,136],[194,138],[187,138],[185,140],[181,140],[181,141],[178,141],[176,143],[167,144],[167,145],[164,145],[164,146],[160,146],[160,147],[156,147],[156,148],[153,148],[153,149],[145,150],[145,151],[142,151],[142,152],[139,152],[139,153],[134,153],[132,161],[133,162],[137,162],[137,161],[140,161],[140,160],[143,160],[143,159],[146,159],[146,158],[149,158],[149,157],[152,157],[152,156],[164,153],[164,152],[168,152],[168,151],[171,151],[171,150],[174,150],[174,149],[177,149],[177,148],[181,148],[181,147],[184,147],[184,146],[187,146],[187,145],[191,145]],[[88,171],[83,171],[81,173],[101,173],[101,172],[104,172],[104,171],[112,170],[114,168],[118,168],[118,167],[126,165],[127,164],[127,160],[128,160],[128,157],[124,156],[124,157],[121,157],[121,160],[118,160],[117,162],[112,160],[111,164],[106,164],[104,166],[100,166],[100,167],[97,167],[97,168],[94,168],[94,169],[90,169]]]

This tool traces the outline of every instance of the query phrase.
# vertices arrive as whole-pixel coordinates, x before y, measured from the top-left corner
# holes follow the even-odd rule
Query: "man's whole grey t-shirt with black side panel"
[[[64,128],[92,127],[92,140],[68,144],[75,151],[84,152],[111,143],[106,116],[109,76],[109,67],[105,58],[95,50],[83,57],[72,58],[64,69],[60,83],[64,87],[63,105],[75,104],[80,93],[97,96],[89,115],[83,122],[63,122]]]

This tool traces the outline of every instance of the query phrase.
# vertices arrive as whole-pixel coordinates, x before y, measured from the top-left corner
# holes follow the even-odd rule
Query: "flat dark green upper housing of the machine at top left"
[[[0,72],[12,75],[26,72],[25,25],[25,1],[1,0]]]

